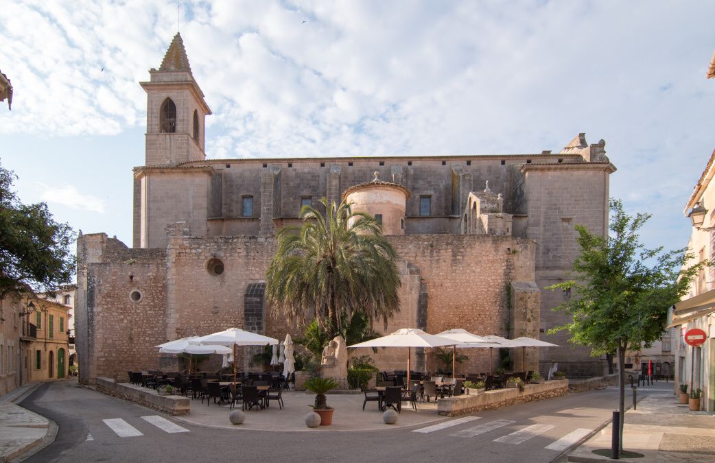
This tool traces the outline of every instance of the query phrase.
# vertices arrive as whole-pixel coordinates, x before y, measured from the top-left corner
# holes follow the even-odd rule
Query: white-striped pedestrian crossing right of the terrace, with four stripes
[[[420,429],[413,429],[412,432],[418,432],[420,434],[430,434],[433,432],[440,432],[443,430],[447,430],[448,435],[450,437],[459,437],[463,439],[469,439],[472,437],[477,437],[482,434],[488,434],[488,433],[500,433],[502,435],[496,437],[493,439],[493,442],[498,442],[500,444],[510,444],[510,445],[519,445],[523,444],[524,442],[527,442],[530,439],[533,439],[534,437],[538,437],[541,434],[546,434],[552,429],[556,428],[555,424],[548,424],[548,423],[536,423],[536,424],[530,424],[525,427],[521,427],[520,429],[517,429],[516,431],[509,432],[504,434],[503,431],[505,427],[509,427],[513,424],[517,424],[515,421],[512,421],[510,419],[495,419],[490,422],[480,422],[479,424],[475,426],[470,426],[465,429],[460,429],[458,431],[453,431],[450,428],[453,428],[455,426],[458,426],[460,424],[470,424],[470,422],[474,422],[475,420],[481,419],[481,417],[461,417],[461,418],[455,418],[455,419],[450,419],[445,422],[441,422],[438,424],[433,424],[428,427],[423,427]],[[501,432],[500,432],[501,429]],[[513,429],[513,428],[511,428]],[[581,439],[587,437],[589,434],[593,432],[593,429],[586,429],[586,428],[578,428],[578,429],[573,429],[573,431],[568,432],[568,434],[554,440],[553,442],[549,443],[545,449],[548,450],[556,450],[557,452],[563,452],[564,450],[568,449],[569,447],[573,446],[574,444],[578,443],[581,441]],[[553,436],[552,434],[548,434],[550,439]]]

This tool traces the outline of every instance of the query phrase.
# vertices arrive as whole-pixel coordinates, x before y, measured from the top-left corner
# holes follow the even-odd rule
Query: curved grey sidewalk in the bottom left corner
[[[49,433],[48,419],[14,404],[40,384],[24,384],[0,397],[0,463],[37,447]]]

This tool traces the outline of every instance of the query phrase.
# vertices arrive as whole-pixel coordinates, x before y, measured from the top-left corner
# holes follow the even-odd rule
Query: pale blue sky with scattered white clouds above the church
[[[712,1],[182,1],[210,158],[518,154],[606,140],[611,196],[683,247],[715,148]],[[0,9],[0,163],[25,202],[131,245],[132,166],[176,1]]]

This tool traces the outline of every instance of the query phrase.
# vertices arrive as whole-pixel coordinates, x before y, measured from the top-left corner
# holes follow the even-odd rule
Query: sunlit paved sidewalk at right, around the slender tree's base
[[[569,454],[568,461],[715,462],[715,416],[690,412],[687,404],[677,404],[672,392],[649,394],[638,402],[636,410],[626,412],[623,427],[623,449],[644,454],[644,457],[612,460],[594,454],[595,449],[611,449],[611,424]]]

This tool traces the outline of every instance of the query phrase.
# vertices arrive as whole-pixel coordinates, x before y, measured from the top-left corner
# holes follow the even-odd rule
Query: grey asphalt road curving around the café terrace
[[[656,385],[654,392],[666,387]],[[448,418],[428,429],[365,432],[192,426],[76,382],[44,384],[21,406],[59,425],[54,443],[28,462],[533,463],[553,461],[564,446],[601,426],[611,417],[617,397],[616,389],[603,389]]]

